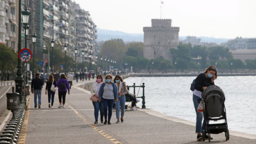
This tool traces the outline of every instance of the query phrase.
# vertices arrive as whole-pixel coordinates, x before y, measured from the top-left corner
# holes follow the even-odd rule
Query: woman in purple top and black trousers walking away
[[[69,95],[70,90],[69,90],[69,84],[67,81],[67,77],[65,74],[60,75],[60,79],[57,83],[57,87],[58,87],[59,102],[60,102],[60,105],[58,108],[61,108],[61,107],[66,108],[66,106],[65,106],[66,94],[68,91],[68,95]]]

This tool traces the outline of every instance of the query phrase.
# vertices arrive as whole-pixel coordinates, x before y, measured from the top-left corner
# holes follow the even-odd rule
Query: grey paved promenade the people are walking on
[[[43,90],[41,109],[35,109],[34,95],[30,94],[20,143],[203,143],[196,141],[194,122],[150,109],[125,110],[124,123],[119,124],[115,123],[113,110],[111,125],[94,125],[94,109],[89,100],[91,94],[82,89],[81,84],[80,81],[73,81],[70,95],[66,96],[67,108],[58,108],[58,92],[53,108],[48,108],[47,95]],[[212,134],[211,142],[256,143],[256,135],[244,134],[247,138],[235,136],[243,134],[230,131],[230,140],[227,142],[225,133]]]

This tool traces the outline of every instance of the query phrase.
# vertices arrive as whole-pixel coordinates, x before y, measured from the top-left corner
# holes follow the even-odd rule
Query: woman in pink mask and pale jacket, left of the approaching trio
[[[97,79],[96,79],[96,82],[92,84],[91,94],[95,98],[99,98],[99,90],[100,90],[100,86],[102,84],[102,81],[103,81],[102,76],[98,75]],[[100,110],[100,122],[103,123],[104,110],[103,110],[102,101],[99,102],[99,100],[98,100],[97,102],[92,102],[92,104],[93,104],[93,107],[94,107],[94,117],[95,117],[94,124],[98,124],[99,110]]]

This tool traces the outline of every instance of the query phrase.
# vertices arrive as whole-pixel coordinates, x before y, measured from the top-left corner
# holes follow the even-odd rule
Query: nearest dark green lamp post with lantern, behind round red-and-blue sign
[[[21,0],[19,0],[19,32],[18,32],[18,52],[21,50],[21,13],[23,16],[23,23],[28,23],[28,19],[29,19],[29,14],[30,12],[27,9],[27,6],[25,8],[25,11],[21,12]],[[18,63],[17,63],[17,77],[15,78],[15,92],[20,94],[20,103],[23,103],[23,97],[22,97],[22,87],[23,87],[23,77],[22,77],[22,65],[21,65],[21,60],[18,59]]]

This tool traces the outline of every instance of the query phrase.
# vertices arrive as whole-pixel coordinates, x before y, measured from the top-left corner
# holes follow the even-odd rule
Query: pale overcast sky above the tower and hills
[[[255,0],[73,0],[100,29],[143,34],[151,19],[172,19],[179,36],[255,38]],[[162,9],[161,9],[162,6]],[[161,14],[162,13],[162,14]]]

